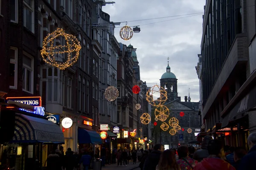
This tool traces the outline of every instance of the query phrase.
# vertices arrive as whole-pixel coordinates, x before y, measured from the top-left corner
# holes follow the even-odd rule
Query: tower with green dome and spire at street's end
[[[169,57],[168,57],[168,65],[166,67],[166,72],[162,75],[160,79],[160,85],[162,88],[167,91],[167,102],[171,102],[173,100],[179,100],[177,92],[177,78],[175,74],[171,72],[171,68],[169,66]]]

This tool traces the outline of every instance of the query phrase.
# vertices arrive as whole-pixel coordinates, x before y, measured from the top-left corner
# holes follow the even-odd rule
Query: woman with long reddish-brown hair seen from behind
[[[156,170],[180,170],[175,159],[175,153],[172,150],[163,151]]]

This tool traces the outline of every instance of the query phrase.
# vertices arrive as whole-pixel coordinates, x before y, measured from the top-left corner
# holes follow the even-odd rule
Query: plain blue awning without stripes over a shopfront
[[[78,128],[78,142],[80,144],[102,144],[102,139],[96,131]]]

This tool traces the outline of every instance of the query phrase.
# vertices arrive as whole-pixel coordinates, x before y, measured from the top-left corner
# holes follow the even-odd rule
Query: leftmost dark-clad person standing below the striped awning
[[[55,151],[52,151],[51,154],[48,155],[46,162],[47,170],[61,170],[61,160]]]

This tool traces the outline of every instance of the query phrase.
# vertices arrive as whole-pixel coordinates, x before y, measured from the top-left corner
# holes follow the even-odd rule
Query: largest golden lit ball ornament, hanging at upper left
[[[65,45],[54,45],[57,37],[65,38]],[[64,70],[72,66],[80,55],[81,45],[77,38],[71,34],[66,34],[62,28],[57,28],[52,33],[48,34],[43,41],[43,48],[41,50],[41,56],[44,62],[52,65],[60,70]],[[74,54],[75,55],[71,55]],[[67,54],[67,58],[63,61],[62,57],[58,55]],[[64,58],[64,57],[63,57]]]

